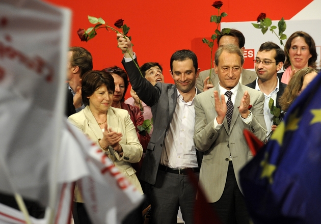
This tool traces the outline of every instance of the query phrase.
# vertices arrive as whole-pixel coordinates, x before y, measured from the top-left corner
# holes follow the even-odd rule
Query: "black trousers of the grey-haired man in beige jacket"
[[[222,224],[248,224],[249,213],[244,196],[240,192],[233,169],[232,161],[229,161],[226,183],[219,201],[210,203],[216,210]]]

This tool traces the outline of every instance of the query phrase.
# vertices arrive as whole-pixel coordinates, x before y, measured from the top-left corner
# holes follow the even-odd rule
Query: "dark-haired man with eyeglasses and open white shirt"
[[[285,53],[277,44],[270,41],[261,44],[254,59],[258,77],[247,85],[264,93],[264,120],[268,130],[266,136],[270,136],[274,117],[270,112],[269,101],[272,98],[274,106],[280,107],[279,98],[286,87],[286,84],[282,83],[277,77],[277,72],[281,70],[284,60]]]

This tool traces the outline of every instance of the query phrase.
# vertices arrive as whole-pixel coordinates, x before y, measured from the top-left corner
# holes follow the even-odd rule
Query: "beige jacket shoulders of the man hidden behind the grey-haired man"
[[[204,88],[204,80],[209,76],[209,70],[201,71],[200,75],[196,79],[196,84],[195,86],[197,89],[199,89],[201,92],[203,92]],[[254,71],[250,71],[247,69],[242,70],[242,84],[247,85],[248,83],[254,81],[257,78],[257,75]],[[212,73],[210,75],[210,83],[213,84],[213,86],[218,85],[219,83],[219,77],[215,73],[215,69],[212,69]]]

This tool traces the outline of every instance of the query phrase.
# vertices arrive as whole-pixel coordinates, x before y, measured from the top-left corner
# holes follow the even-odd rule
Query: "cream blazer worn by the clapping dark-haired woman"
[[[112,147],[106,151],[108,157],[118,167],[120,172],[128,178],[131,184],[143,193],[141,184],[136,176],[136,171],[132,168],[130,163],[139,162],[143,155],[142,145],[138,141],[135,126],[130,120],[127,110],[110,107],[107,111],[107,124],[113,131],[121,132],[122,138],[119,144],[123,149],[123,156],[119,156]],[[87,134],[93,142],[99,146],[99,139],[103,137],[103,133],[91,113],[89,106],[86,106],[78,113],[71,115],[68,121],[76,126],[79,130]],[[76,187],[77,188],[77,187]],[[81,196],[77,189],[75,190],[75,198],[77,202],[82,202]]]

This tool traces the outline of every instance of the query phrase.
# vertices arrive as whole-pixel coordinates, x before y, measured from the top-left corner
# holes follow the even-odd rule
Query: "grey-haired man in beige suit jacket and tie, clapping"
[[[194,142],[204,152],[199,182],[222,223],[249,223],[238,187],[238,172],[252,156],[243,129],[264,141],[264,95],[239,83],[244,58],[237,46],[220,47],[215,62],[219,85],[195,97]]]

